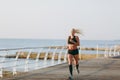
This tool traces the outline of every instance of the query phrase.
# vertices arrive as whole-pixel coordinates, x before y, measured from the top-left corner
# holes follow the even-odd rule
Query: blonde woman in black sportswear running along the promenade
[[[67,39],[67,49],[68,49],[68,64],[69,64],[69,72],[70,76],[69,79],[73,80],[73,59],[74,59],[74,64],[76,66],[76,70],[79,74],[79,50],[78,46],[80,46],[80,40],[79,37],[76,34],[80,34],[79,29],[74,29],[72,28],[70,35],[68,36]]]

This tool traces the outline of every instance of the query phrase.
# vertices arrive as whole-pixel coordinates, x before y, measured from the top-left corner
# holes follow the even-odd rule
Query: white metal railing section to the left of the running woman
[[[42,51],[45,49],[44,51],[44,58],[43,58],[43,62],[42,62],[42,66],[39,64],[40,63],[40,54],[42,53]],[[34,47],[34,48],[16,48],[16,49],[0,49],[0,77],[2,78],[3,75],[4,75],[4,71],[9,71],[12,73],[12,75],[16,75],[17,72],[18,72],[18,67],[22,67],[23,69],[23,72],[28,72],[28,71],[31,71],[30,69],[30,65],[34,66],[34,69],[39,69],[39,68],[43,68],[43,67],[47,67],[48,63],[47,61],[47,57],[48,57],[48,53],[49,51],[52,50],[52,57],[51,57],[51,60],[52,60],[52,64],[49,64],[49,66],[53,66],[53,65],[57,65],[57,64],[62,64],[62,63],[65,63],[67,60],[67,56],[66,56],[66,47],[65,46],[62,46],[62,47],[59,47],[59,46],[51,46],[51,47]],[[60,49],[62,50],[60,52],[60,54],[64,54],[64,60],[59,60],[61,59],[61,57],[58,58],[57,61],[54,62],[54,57],[55,57],[55,54],[56,54],[56,50],[57,49]],[[12,51],[12,54],[10,54],[10,52]],[[6,52],[5,54],[2,54],[2,52]],[[22,62],[22,64],[20,63],[21,62],[21,59],[19,59],[19,56],[20,55],[24,55],[25,53],[24,52],[28,52],[26,57],[23,59],[24,61]],[[32,52],[36,52],[36,57],[34,60],[31,61],[31,54]],[[13,55],[14,54],[14,55]],[[59,53],[58,53],[59,54]],[[10,60],[7,60],[6,57],[12,57],[14,56],[14,58],[10,59]],[[9,65],[9,63],[12,63],[12,65]],[[7,64],[7,66],[6,66]],[[9,74],[9,73],[8,73]]]

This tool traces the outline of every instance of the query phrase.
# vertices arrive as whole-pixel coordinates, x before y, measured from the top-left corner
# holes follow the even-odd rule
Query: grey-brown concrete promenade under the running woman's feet
[[[74,80],[120,80],[120,58],[98,58],[79,63],[80,74],[74,68]],[[7,80],[69,80],[68,76],[68,64],[65,63]]]

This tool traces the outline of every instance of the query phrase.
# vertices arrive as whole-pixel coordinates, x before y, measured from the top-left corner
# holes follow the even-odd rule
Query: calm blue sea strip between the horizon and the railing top
[[[46,47],[66,46],[64,39],[0,39],[0,49],[25,48],[25,47]],[[96,47],[119,45],[120,40],[80,40],[80,46]]]

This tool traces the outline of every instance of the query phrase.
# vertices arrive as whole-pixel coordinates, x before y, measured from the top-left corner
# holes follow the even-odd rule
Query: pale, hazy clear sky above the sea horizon
[[[0,38],[120,40],[120,0],[0,0]]]

